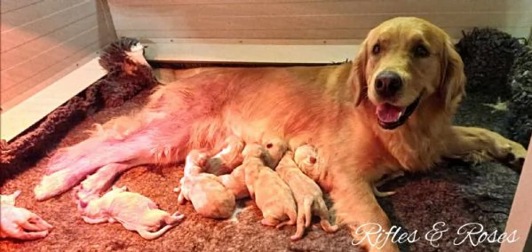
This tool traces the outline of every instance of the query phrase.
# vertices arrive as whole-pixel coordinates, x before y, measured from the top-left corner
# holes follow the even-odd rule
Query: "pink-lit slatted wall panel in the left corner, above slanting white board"
[[[1,0],[3,110],[53,83],[116,39],[105,0]]]

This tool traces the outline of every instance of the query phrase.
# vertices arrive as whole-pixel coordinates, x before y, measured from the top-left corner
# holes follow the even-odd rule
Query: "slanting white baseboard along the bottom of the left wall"
[[[0,114],[0,138],[10,141],[68,99],[95,83],[106,71],[98,57]]]

